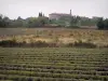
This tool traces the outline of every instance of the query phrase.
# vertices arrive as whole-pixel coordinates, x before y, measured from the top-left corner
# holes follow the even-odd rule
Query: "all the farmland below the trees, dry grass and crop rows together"
[[[0,28],[0,81],[108,81],[108,30]]]

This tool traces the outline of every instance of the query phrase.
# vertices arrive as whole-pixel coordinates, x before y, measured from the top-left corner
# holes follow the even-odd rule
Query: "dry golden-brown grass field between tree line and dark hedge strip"
[[[12,40],[18,43],[92,43],[96,48],[108,48],[108,30],[69,28],[1,28],[0,41]]]

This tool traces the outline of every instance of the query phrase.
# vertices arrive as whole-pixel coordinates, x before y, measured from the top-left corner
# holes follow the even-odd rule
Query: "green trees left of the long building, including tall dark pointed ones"
[[[49,23],[49,18],[39,13],[39,17],[28,17],[23,19],[21,16],[17,19],[10,19],[6,16],[0,15],[0,27],[39,27]]]

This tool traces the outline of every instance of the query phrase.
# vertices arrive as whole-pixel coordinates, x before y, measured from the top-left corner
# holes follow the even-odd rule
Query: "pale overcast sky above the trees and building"
[[[79,16],[108,17],[108,0],[0,0],[0,14],[10,18],[27,18],[43,12],[69,13]]]

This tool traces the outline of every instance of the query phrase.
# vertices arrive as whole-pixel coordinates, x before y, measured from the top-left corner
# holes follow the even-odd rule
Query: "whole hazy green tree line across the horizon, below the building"
[[[103,17],[89,18],[81,16],[60,17],[59,19],[49,19],[43,13],[39,13],[38,17],[10,19],[8,16],[0,15],[1,28],[17,28],[17,27],[43,27],[43,26],[59,26],[59,27],[80,27],[80,26],[97,26],[98,29],[108,29],[108,18]]]

